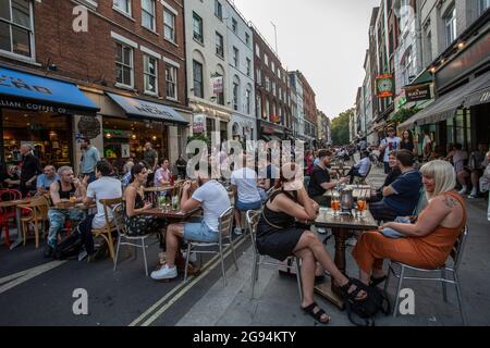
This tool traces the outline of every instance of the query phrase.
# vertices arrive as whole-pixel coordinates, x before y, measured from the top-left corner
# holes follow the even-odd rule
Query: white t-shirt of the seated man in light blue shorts
[[[218,217],[231,207],[230,197],[223,185],[217,181],[209,181],[196,189],[192,198],[200,202],[205,224],[218,232]]]

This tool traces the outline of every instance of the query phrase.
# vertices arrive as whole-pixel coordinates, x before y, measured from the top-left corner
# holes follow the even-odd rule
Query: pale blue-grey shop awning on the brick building
[[[188,122],[174,109],[156,102],[107,94],[128,116],[154,119],[162,122],[185,124]]]

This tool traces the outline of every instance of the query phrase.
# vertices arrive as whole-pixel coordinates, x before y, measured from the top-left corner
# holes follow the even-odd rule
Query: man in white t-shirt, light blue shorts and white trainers
[[[167,264],[158,271],[151,272],[155,281],[173,279],[177,276],[175,258],[179,252],[181,239],[215,243],[218,241],[218,219],[231,207],[226,189],[216,179],[203,177],[197,178],[199,188],[191,196],[191,182],[182,187],[181,210],[192,211],[201,208],[204,217],[200,223],[171,224],[167,228],[166,250]]]

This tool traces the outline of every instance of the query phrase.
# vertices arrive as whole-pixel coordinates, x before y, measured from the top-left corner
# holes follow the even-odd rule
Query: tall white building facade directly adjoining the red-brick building
[[[191,134],[229,139],[232,90],[225,0],[184,0],[187,95],[193,109]]]

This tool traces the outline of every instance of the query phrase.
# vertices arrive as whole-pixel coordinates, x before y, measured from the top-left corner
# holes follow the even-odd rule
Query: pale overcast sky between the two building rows
[[[355,104],[364,80],[371,11],[380,0],[232,0],[278,52],[299,70],[330,119]]]

